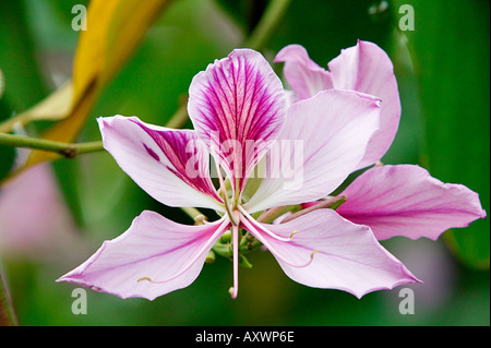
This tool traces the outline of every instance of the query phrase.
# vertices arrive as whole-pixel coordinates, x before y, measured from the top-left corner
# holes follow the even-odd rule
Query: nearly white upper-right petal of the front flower
[[[262,181],[248,212],[299,204],[334,191],[357,167],[379,129],[379,100],[328,89],[290,106],[266,155]]]

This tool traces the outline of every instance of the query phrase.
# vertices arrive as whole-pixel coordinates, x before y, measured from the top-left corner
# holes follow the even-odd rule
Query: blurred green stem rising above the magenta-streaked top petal
[[[247,38],[244,46],[261,50],[278,25],[279,20],[285,14],[290,2],[291,0],[272,0],[261,17],[261,21]]]

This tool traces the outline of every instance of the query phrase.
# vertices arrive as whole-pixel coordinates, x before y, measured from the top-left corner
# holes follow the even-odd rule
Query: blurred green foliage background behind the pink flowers
[[[77,3],[87,1],[0,2],[0,69],[5,75],[0,121],[70,79],[79,37],[71,27],[71,9]],[[165,124],[185,99],[193,75],[240,47],[267,4],[173,1],[103,91],[77,141],[100,139],[95,121],[99,116],[134,115]],[[407,14],[399,13],[403,4],[414,9],[414,31],[399,28]],[[394,62],[403,105],[398,134],[382,160],[419,164],[442,181],[463,183],[480,194],[489,212],[489,23],[487,0],[291,0],[262,52],[272,60],[284,46],[301,44],[325,67],[357,39],[376,43]],[[274,65],[279,75],[282,68]],[[36,122],[25,131],[37,134],[49,125]],[[0,145],[0,179],[14,157],[14,148]],[[47,208],[49,220],[24,226],[23,231],[34,237],[19,241],[19,235],[12,236],[21,233],[15,224],[2,223],[13,214],[5,213],[5,206],[14,203],[1,204],[8,190],[0,188],[1,269],[21,325],[490,325],[489,218],[447,231],[435,242],[383,242],[423,280],[410,286],[416,299],[412,315],[398,311],[402,287],[361,300],[308,288],[290,280],[263,252],[251,255],[251,269],[240,269],[237,300],[227,292],[231,263],[218,259],[205,264],[188,288],[152,302],[87,290],[87,314],[74,315],[75,287],[55,279],[85,261],[105,239],[122,233],[143,209],[192,221],[180,209],[153,201],[106,153],[59,159],[41,168],[31,180],[52,185],[55,195],[36,194],[36,184],[27,190],[21,183],[22,196],[11,201],[17,219],[25,220],[39,218],[36,204],[55,202]]]

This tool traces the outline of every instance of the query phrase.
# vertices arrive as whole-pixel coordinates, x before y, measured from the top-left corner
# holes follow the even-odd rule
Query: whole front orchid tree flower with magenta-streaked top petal
[[[279,225],[256,219],[271,207],[320,200],[345,181],[380,128],[378,97],[327,89],[288,106],[278,76],[250,49],[209,64],[189,94],[194,130],[122,116],[98,123],[105,148],[151,196],[169,206],[214,209],[217,219],[182,225],[145,211],[58,281],[153,300],[193,283],[215,244],[231,255],[232,298],[251,244],[267,248],[295,281],[358,298],[419,281],[368,226],[334,209]],[[221,243],[227,236],[230,241]]]

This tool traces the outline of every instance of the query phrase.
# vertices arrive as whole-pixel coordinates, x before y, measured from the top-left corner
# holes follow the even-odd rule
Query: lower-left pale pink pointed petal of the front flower
[[[60,277],[121,298],[153,300],[184,288],[200,274],[208,251],[229,223],[188,226],[145,211],[118,238]]]

